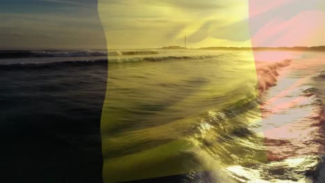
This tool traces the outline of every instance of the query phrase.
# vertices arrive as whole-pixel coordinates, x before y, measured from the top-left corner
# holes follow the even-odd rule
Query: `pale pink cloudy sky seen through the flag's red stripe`
[[[277,0],[277,6],[251,0],[249,26],[254,46],[317,46],[324,44],[322,30],[324,3],[321,0]],[[261,11],[263,10],[263,11]],[[259,12],[259,14],[256,14]],[[317,22],[317,23],[315,23]],[[316,40],[314,37],[317,37]],[[313,40],[310,41],[310,40]],[[319,42],[319,40],[322,40]],[[323,42],[323,43],[322,43]]]

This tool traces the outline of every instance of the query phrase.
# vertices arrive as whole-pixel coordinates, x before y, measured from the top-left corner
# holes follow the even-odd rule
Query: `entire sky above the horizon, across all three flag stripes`
[[[0,49],[319,46],[322,0],[1,0]]]

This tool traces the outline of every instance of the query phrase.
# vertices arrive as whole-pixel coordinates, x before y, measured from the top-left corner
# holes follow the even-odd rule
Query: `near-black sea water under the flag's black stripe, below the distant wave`
[[[106,62],[0,68],[0,181],[102,182]]]

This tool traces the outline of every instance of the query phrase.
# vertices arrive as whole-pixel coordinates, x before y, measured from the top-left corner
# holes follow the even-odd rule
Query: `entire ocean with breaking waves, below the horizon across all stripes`
[[[324,58],[1,51],[1,162],[17,182],[324,182]]]

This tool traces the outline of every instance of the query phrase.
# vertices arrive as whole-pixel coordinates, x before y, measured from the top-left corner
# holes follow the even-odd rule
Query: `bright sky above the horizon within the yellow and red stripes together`
[[[108,46],[325,45],[322,0],[99,0]]]

